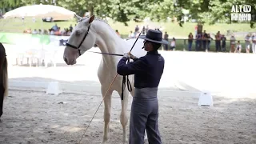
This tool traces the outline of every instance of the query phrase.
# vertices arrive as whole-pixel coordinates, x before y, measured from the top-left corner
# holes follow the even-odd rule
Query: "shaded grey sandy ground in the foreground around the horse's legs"
[[[101,98],[99,90],[58,96],[46,95],[40,90],[10,90],[0,122],[0,143],[77,143]],[[109,143],[120,144],[121,107],[117,93],[114,93],[112,103]],[[197,97],[159,91],[159,125],[163,143],[256,143],[255,99],[214,96],[214,107],[200,107],[197,103]],[[82,143],[102,141],[102,112],[103,106]]]

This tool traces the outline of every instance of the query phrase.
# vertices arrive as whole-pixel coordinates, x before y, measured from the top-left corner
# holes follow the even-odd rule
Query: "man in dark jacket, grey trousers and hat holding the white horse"
[[[134,74],[134,97],[130,111],[130,144],[144,144],[145,129],[149,143],[161,144],[158,130],[158,84],[162,77],[165,60],[158,54],[162,44],[168,44],[162,39],[159,30],[148,30],[144,49],[147,54],[141,58],[127,53],[118,62],[117,71],[120,75]],[[128,58],[134,62],[126,64]]]

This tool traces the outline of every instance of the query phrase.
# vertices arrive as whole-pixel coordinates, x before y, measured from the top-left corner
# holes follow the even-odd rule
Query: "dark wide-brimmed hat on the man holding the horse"
[[[140,35],[138,38],[145,39],[146,41],[162,43],[168,45],[169,42],[162,39],[162,32],[160,30],[148,30],[146,35]]]

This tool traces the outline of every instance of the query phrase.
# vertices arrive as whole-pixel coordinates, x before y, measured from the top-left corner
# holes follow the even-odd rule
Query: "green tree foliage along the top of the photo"
[[[182,10],[190,11],[190,19],[198,22],[214,24],[215,22],[230,21],[231,6],[249,4],[252,14],[255,14],[251,27],[256,21],[255,0],[1,0],[0,9],[6,11],[19,6],[32,4],[53,4],[65,7],[79,15],[90,12],[100,18],[109,17],[117,22],[142,21],[150,17],[156,21],[166,21],[178,18],[182,26],[184,14]]]

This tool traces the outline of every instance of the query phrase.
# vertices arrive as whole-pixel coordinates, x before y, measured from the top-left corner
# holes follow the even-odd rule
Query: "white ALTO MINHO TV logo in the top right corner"
[[[233,5],[231,8],[231,21],[250,22],[251,21],[250,5]]]

